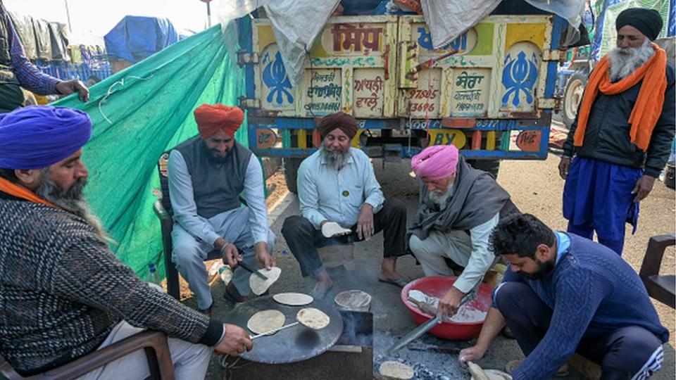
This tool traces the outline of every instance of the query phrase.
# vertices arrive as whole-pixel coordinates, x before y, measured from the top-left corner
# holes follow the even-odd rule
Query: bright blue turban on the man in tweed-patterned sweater
[[[0,167],[41,169],[77,152],[92,135],[87,113],[28,106],[0,114]]]

